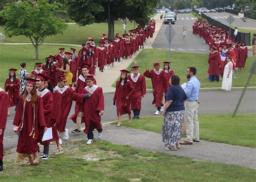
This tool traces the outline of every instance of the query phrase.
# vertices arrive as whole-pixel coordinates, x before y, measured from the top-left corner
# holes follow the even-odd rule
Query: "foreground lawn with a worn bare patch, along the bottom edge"
[[[253,181],[255,177],[255,170],[241,166],[201,162],[103,141],[85,143],[69,141],[63,145],[63,154],[51,155],[37,166],[16,164],[14,157],[10,159],[11,154],[7,154],[0,180]]]

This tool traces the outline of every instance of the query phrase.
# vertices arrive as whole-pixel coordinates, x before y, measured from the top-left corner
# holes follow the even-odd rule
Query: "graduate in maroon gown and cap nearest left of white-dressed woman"
[[[211,52],[208,58],[208,74],[211,76],[211,82],[214,82],[214,78],[217,78],[217,82],[219,82],[220,69],[219,65],[221,64],[220,54],[217,51],[217,47],[212,46]]]

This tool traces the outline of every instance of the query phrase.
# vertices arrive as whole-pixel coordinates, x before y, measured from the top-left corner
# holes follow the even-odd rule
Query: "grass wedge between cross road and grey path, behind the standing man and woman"
[[[231,116],[231,114],[199,115],[200,139],[256,148],[256,114]],[[163,120],[164,117],[146,117],[133,119],[131,124],[124,121],[122,125],[160,134]]]

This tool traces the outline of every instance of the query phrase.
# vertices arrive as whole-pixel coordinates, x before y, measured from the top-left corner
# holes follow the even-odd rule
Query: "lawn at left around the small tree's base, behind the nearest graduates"
[[[39,46],[39,61],[45,63],[45,58],[50,54],[55,55],[58,52],[59,47],[65,47],[69,51],[70,46],[63,45],[41,45]],[[80,50],[79,47],[77,51]],[[21,62],[26,62],[26,70],[31,72],[34,69],[36,54],[35,48],[31,45],[0,45],[0,87],[4,87],[4,81],[8,78],[10,68],[20,69],[19,65]],[[18,71],[16,76],[19,78]]]

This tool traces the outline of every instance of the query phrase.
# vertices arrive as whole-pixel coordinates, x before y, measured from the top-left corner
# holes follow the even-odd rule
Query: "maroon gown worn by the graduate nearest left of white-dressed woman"
[[[219,64],[221,64],[220,53],[215,51],[214,53],[210,53],[208,59],[209,69],[208,74],[218,76],[220,75]]]

